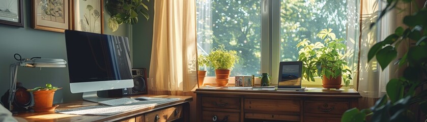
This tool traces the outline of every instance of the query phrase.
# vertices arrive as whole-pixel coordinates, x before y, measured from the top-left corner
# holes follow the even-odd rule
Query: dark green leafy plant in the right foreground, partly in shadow
[[[411,0],[388,0],[377,22],[402,2],[417,3]],[[417,117],[409,110],[410,106],[420,109],[424,116],[427,113],[427,90],[420,88],[427,83],[427,9],[414,10],[416,10],[414,13],[403,19],[407,27],[397,27],[394,34],[372,46],[368,52],[368,59],[376,57],[381,69],[384,70],[395,60],[397,52],[401,51],[397,50],[398,46],[402,43],[410,44],[407,51],[401,52],[404,56],[398,59],[399,67],[404,70],[403,76],[388,81],[387,94],[374,106],[362,110],[357,108],[347,110],[341,121],[366,121],[366,116],[371,116],[371,121],[417,121],[414,120]],[[375,24],[373,23],[371,27]]]

